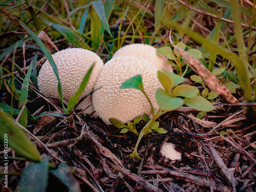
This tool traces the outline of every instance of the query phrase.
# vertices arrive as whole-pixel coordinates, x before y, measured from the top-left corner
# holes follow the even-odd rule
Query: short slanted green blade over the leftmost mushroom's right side
[[[84,89],[86,89],[86,85],[88,83],[88,80],[90,78],[90,75],[92,73],[93,70],[93,66],[88,70],[88,72],[86,73],[86,75],[83,77],[83,80],[79,86],[79,88],[76,90],[76,93],[70,98],[69,103],[68,103],[68,114],[71,113],[71,111],[73,110],[74,106],[77,104],[77,99],[79,98],[79,96],[84,92]]]

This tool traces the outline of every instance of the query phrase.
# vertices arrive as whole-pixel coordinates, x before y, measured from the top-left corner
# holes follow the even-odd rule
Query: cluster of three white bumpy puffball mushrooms
[[[166,64],[165,57],[157,55],[154,47],[144,44],[124,46],[105,65],[98,55],[80,48],[62,50],[52,57],[58,69],[63,98],[66,100],[74,95],[84,75],[92,63],[95,63],[86,89],[79,99],[93,89],[100,89],[80,103],[77,109],[90,105],[85,113],[95,110],[106,124],[110,124],[110,118],[126,123],[143,113],[151,114],[150,104],[142,92],[136,89],[119,89],[125,80],[141,74],[145,93],[154,108],[158,108],[155,92],[162,86],[157,78],[157,71],[165,69],[173,72],[172,67]],[[53,69],[49,61],[46,61],[38,75],[39,91],[46,96],[58,98],[57,85]]]

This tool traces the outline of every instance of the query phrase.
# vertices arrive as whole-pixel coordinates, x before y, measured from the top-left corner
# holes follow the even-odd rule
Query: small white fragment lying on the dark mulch
[[[164,143],[160,153],[162,154],[162,156],[166,157],[166,159],[170,159],[170,160],[181,160],[181,153],[177,152],[174,149],[174,144],[173,143]]]

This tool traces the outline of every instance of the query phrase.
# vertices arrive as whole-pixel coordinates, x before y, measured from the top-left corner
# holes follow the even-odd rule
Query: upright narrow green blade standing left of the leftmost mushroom
[[[26,104],[27,98],[28,98],[28,92],[29,92],[29,79],[31,75],[31,70],[32,70],[32,61],[30,63],[28,72],[26,77],[24,78],[23,84],[22,84],[22,90],[20,91],[20,97],[19,97],[19,102],[18,102],[18,109],[21,110],[23,108],[23,105]],[[19,123],[27,127],[27,121],[28,121],[28,114],[26,108],[23,110],[22,114],[19,117]]]

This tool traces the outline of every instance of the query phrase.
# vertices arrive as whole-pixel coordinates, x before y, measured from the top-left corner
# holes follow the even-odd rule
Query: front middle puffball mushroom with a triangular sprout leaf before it
[[[116,57],[103,66],[95,84],[92,102],[96,114],[106,123],[116,118],[126,123],[146,113],[151,106],[144,94],[137,89],[119,89],[124,81],[141,74],[145,93],[154,108],[158,108],[156,90],[162,88],[157,78],[158,69],[150,62],[132,56]]]

